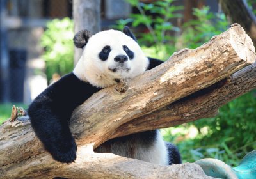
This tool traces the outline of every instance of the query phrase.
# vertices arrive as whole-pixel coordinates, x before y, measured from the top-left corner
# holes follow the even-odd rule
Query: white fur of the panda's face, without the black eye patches
[[[108,60],[102,61],[99,59],[99,52],[106,45],[111,47],[111,52]],[[109,68],[113,69],[119,65],[114,58],[118,55],[127,56],[123,45],[127,45],[134,52],[134,58],[125,62],[124,66],[120,66],[117,72],[111,72]],[[115,84],[114,79],[132,78],[142,74],[147,67],[148,58],[138,43],[120,31],[108,30],[96,33],[88,40],[73,72],[79,79],[88,81],[93,86],[105,88]]]

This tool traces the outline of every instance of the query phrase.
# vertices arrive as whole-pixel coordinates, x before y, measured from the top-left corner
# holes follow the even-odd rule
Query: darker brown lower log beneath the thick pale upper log
[[[213,117],[218,108],[230,100],[256,88],[256,64],[247,66],[208,88],[196,91],[188,97],[118,127],[111,138],[128,134],[166,128],[202,118]],[[165,122],[163,122],[165,121]]]

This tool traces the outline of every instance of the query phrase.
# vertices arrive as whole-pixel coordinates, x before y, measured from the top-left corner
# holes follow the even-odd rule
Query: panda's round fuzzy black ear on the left
[[[90,31],[84,29],[76,33],[76,35],[73,38],[73,42],[77,48],[82,48],[86,45],[89,38],[92,36],[92,33]]]

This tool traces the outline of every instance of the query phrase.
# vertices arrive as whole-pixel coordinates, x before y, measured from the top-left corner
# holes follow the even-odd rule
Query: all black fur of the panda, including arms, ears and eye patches
[[[124,27],[123,32],[125,35],[130,36],[136,41],[135,36],[131,33],[128,27]],[[91,36],[91,33],[87,30],[80,31],[74,36],[74,44],[78,48],[84,48]],[[123,49],[129,59],[125,59],[125,57],[122,56],[116,56],[115,61],[127,61],[134,58],[134,52],[131,51],[129,47],[125,47],[125,44]],[[99,58],[102,61],[107,60],[108,51],[110,50],[110,47],[100,49]],[[100,51],[103,51],[101,55]],[[148,60],[149,65],[147,70],[163,63],[163,61],[154,58],[148,58]],[[111,70],[115,71],[116,69]],[[74,160],[76,160],[77,146],[74,137],[72,137],[70,132],[70,128],[68,127],[72,111],[94,93],[100,91],[100,89],[102,88],[95,87],[95,85],[92,85],[89,82],[81,81],[74,72],[71,72],[45,89],[29,106],[28,114],[36,136],[42,141],[45,149],[51,153],[55,160],[65,163],[74,162]],[[108,152],[105,150],[106,146],[116,146],[115,144],[120,145],[125,143],[129,144],[134,139],[146,148],[150,148],[152,144],[156,143],[157,135],[159,135],[157,132],[157,130],[152,130],[111,139],[99,146],[95,151]],[[180,164],[180,153],[176,146],[171,143],[165,143],[165,146],[168,151],[168,164]],[[125,146],[125,148],[126,147],[127,146]],[[133,156],[125,155],[125,157]]]

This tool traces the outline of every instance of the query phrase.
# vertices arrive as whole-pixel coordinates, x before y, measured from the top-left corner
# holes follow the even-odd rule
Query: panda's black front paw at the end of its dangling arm
[[[54,151],[52,154],[53,159],[61,163],[70,164],[76,160],[76,150],[77,146],[74,141],[72,141],[67,146],[60,146],[60,148]]]

